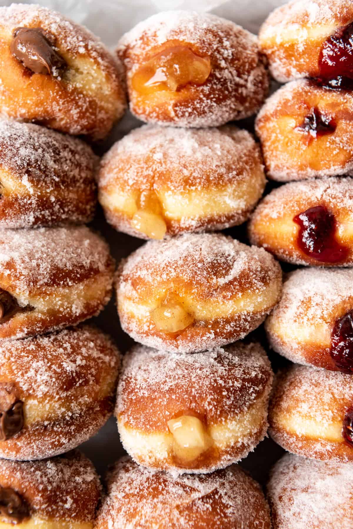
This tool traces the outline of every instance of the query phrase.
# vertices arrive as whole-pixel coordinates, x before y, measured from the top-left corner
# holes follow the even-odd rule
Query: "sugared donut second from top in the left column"
[[[96,205],[96,162],[83,141],[0,120],[0,226],[89,222]]]

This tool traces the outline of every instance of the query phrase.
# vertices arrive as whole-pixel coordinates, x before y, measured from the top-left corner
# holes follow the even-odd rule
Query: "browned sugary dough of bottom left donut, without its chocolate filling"
[[[93,464],[79,451],[45,461],[0,460],[0,485],[12,488],[37,519],[93,522],[101,484]]]

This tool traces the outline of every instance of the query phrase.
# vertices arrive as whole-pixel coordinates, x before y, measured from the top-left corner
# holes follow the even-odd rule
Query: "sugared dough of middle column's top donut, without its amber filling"
[[[181,43],[211,59],[203,85],[189,85],[161,105],[141,100],[132,75],[168,42]],[[209,13],[157,13],[123,35],[117,49],[128,78],[130,109],[147,122],[184,127],[218,126],[256,112],[268,90],[264,61],[255,35]]]

